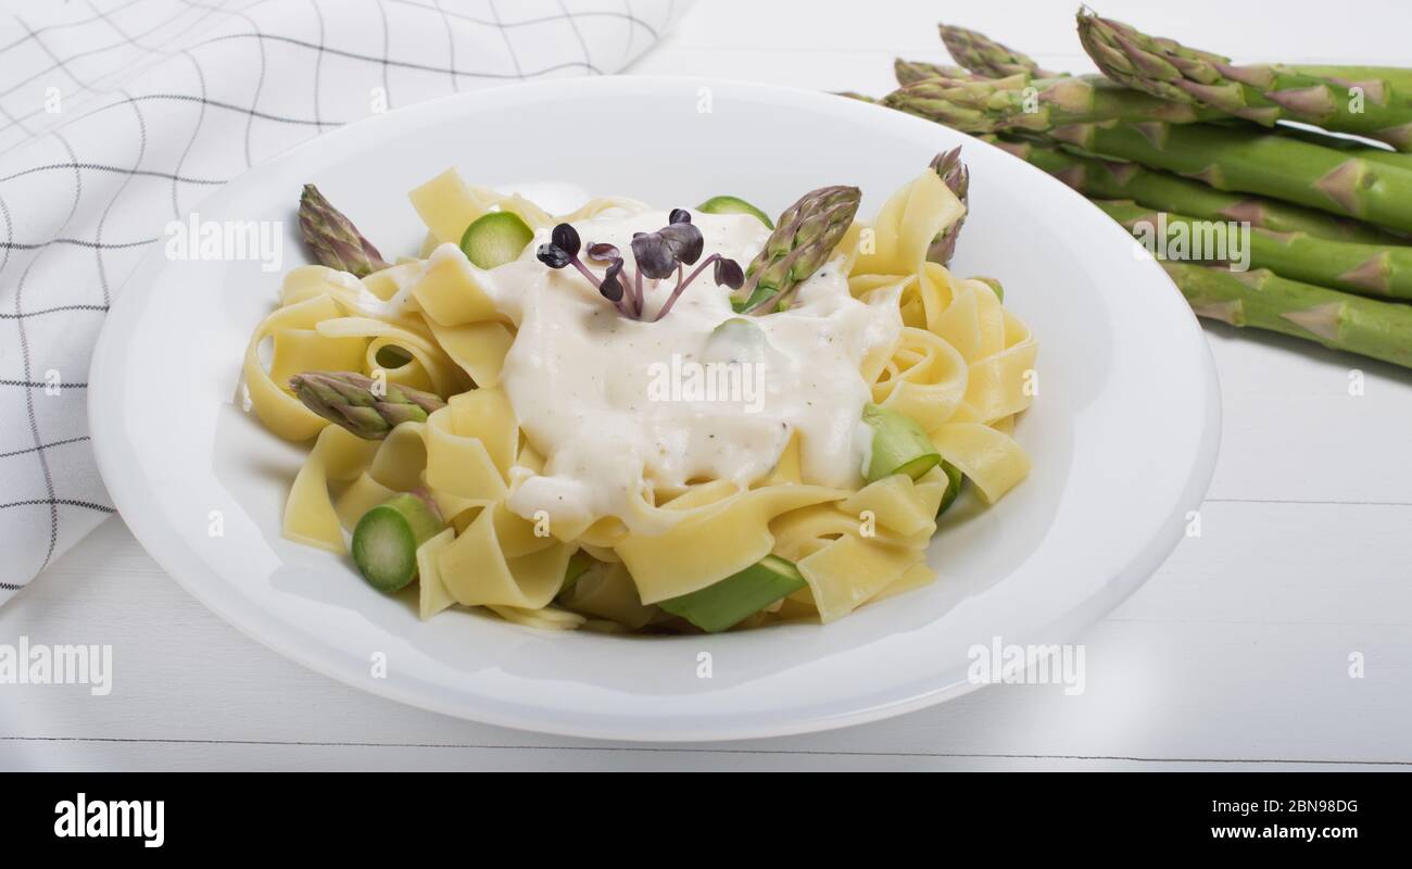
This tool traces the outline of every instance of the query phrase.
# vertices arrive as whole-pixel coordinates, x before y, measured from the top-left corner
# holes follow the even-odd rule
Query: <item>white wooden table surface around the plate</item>
[[[1247,58],[1405,64],[1412,32],[1405,0],[1099,8]],[[943,59],[936,16],[1082,69],[1072,11],[702,0],[635,72],[882,93],[895,54]],[[113,519],[0,609],[0,637],[112,643],[113,692],[0,688],[0,769],[1412,769],[1412,374],[1207,335],[1226,425],[1203,534],[1082,637],[1083,695],[991,687],[875,725],[727,745],[505,731],[285,661],[196,603]]]

